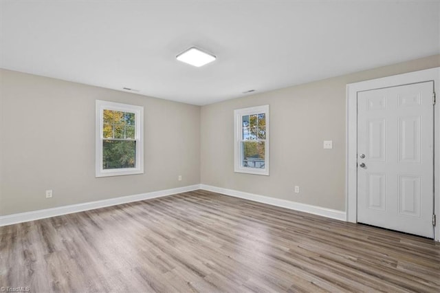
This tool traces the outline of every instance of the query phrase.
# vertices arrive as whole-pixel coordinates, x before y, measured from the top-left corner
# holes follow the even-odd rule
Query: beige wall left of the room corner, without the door
[[[0,215],[199,184],[200,107],[8,70],[0,80]],[[95,177],[96,99],[144,106],[144,174]]]

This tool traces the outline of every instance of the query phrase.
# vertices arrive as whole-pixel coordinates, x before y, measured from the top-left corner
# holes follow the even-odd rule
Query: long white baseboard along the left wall
[[[141,193],[138,195],[128,195],[124,197],[103,199],[96,202],[85,202],[83,204],[71,204],[69,206],[59,206],[57,208],[46,208],[44,210],[33,210],[31,212],[5,215],[0,216],[0,226],[8,226],[12,224],[23,223],[25,221],[34,221],[36,219],[45,219],[48,217],[78,213],[83,212],[84,210],[94,210],[95,208],[105,208],[107,206],[115,206],[117,204],[127,204],[129,202],[137,202],[144,199],[164,197],[176,193],[185,193],[188,191],[195,191],[199,188],[199,184],[195,184],[190,186],[166,189],[163,191],[153,191],[151,193]]]

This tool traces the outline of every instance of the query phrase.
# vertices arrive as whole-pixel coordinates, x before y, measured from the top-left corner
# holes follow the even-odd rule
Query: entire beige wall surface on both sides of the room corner
[[[198,183],[344,210],[345,86],[437,66],[440,55],[203,107],[0,69],[0,215]],[[95,178],[96,99],[145,107],[144,174]],[[266,104],[270,176],[234,173],[233,111]]]

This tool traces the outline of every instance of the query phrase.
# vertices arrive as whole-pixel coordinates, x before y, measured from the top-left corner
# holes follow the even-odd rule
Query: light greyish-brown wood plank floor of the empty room
[[[193,191],[0,228],[30,292],[440,292],[430,239]]]

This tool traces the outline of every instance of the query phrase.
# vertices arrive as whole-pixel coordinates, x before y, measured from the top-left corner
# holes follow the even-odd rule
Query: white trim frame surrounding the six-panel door
[[[411,83],[434,81],[437,102],[434,105],[434,213],[437,224],[434,227],[434,240],[440,241],[440,67],[417,72],[398,74],[347,85],[347,120],[346,120],[346,166],[345,192],[347,221],[358,221],[358,91],[395,87]]]

